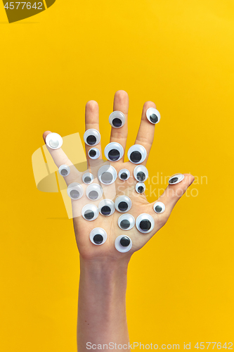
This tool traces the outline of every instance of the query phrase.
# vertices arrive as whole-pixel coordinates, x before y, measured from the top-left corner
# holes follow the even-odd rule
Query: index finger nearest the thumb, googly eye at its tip
[[[145,147],[147,156],[145,158],[145,161],[143,161],[142,163],[143,165],[147,163],[155,134],[155,125],[150,123],[149,120],[146,118],[146,111],[148,110],[148,108],[156,108],[155,103],[153,103],[152,101],[146,101],[146,103],[144,103],[141,115],[141,125],[139,127],[135,141],[135,144],[141,144],[141,146]]]

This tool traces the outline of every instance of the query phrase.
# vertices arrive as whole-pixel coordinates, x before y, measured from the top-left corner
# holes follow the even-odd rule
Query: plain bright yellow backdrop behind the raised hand
[[[0,6],[0,31],[0,350],[76,351],[72,220],[60,194],[37,191],[31,156],[44,130],[82,136],[90,99],[108,144],[117,89],[129,93],[128,147],[143,103],[161,113],[150,175],[208,180],[131,260],[131,341],[232,341],[234,2],[57,0],[11,25]]]

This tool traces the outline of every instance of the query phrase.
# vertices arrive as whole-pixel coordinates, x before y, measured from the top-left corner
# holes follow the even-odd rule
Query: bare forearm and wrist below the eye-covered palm
[[[129,260],[80,260],[78,352],[91,344],[129,343],[126,273]],[[126,351],[126,350],[125,350]]]

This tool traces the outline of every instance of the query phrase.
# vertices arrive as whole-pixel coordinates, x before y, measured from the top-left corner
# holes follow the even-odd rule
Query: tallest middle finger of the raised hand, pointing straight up
[[[124,90],[118,90],[115,93],[113,111],[121,111],[125,115],[125,123],[122,127],[112,127],[110,142],[117,142],[122,145],[124,152],[126,149],[126,137],[128,135],[127,118],[129,112],[129,96]],[[124,161],[124,155],[119,161]]]

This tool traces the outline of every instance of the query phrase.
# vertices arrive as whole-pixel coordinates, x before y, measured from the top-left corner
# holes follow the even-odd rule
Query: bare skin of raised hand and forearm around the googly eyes
[[[150,107],[156,108],[155,103],[147,101],[143,106],[141,125],[135,141],[135,144],[143,145],[147,151],[147,158],[141,165],[146,165],[154,139],[155,125],[146,118],[146,111]],[[128,110],[128,94],[122,90],[117,91],[115,93],[113,111],[122,111],[126,117],[126,122],[123,127],[118,129],[112,127],[110,142],[122,144],[124,151],[128,132]],[[99,130],[98,103],[96,101],[88,101],[86,103],[85,121],[86,130],[91,128]],[[135,122],[136,119],[134,120]],[[44,132],[44,141],[49,133],[50,131]],[[91,172],[100,167],[98,163],[102,163],[100,143],[95,147],[100,150],[98,161],[89,159],[87,153],[91,146],[86,145],[87,163]],[[70,165],[71,173],[65,177],[67,185],[71,182],[82,184],[82,173],[71,165],[62,149],[53,150],[48,148],[48,151],[50,151],[58,167],[62,164]],[[129,333],[126,322],[126,276],[129,260],[134,252],[141,249],[165,225],[178,199],[181,198],[194,181],[193,175],[183,174],[185,175],[183,181],[178,184],[169,184],[160,199],[155,199],[155,202],[162,201],[165,205],[164,213],[157,214],[153,210],[153,203],[155,202],[148,203],[145,194],[138,194],[135,191],[137,181],[134,179],[134,168],[136,165],[129,161],[124,163],[124,156],[121,160],[110,164],[115,167],[117,172],[126,168],[131,173],[129,180],[124,182],[117,177],[115,181],[115,198],[121,194],[127,194],[132,202],[128,213],[133,215],[135,219],[141,213],[152,215],[155,220],[155,227],[148,234],[138,232],[136,226],[131,230],[123,231],[117,225],[119,215],[122,215],[122,213],[117,211],[110,216],[99,215],[94,221],[86,221],[78,214],[80,214],[80,210],[84,206],[84,201],[86,203],[91,203],[91,201],[85,200],[85,196],[78,201],[72,201],[74,233],[80,258],[77,322],[77,346],[79,352],[87,351],[86,344],[88,342],[94,345],[91,351],[95,349],[95,345],[98,348],[98,344],[103,346],[103,344],[109,344],[110,342],[122,344],[124,351],[129,350]],[[85,189],[86,185],[82,185]],[[99,201],[92,203],[98,205]],[[108,234],[108,239],[100,246],[92,244],[89,239],[89,234],[94,227],[101,227]],[[121,234],[129,236],[133,244],[131,250],[127,253],[120,253],[115,249],[115,239]]]

